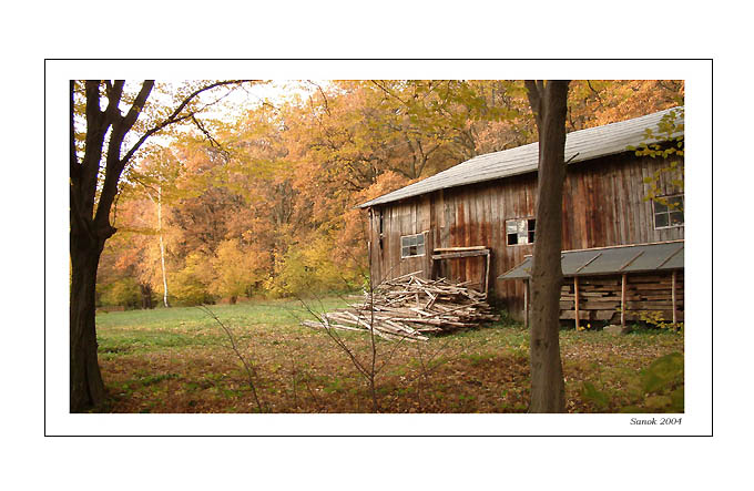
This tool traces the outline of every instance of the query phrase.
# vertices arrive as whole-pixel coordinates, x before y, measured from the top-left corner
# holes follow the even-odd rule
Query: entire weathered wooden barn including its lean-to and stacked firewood
[[[659,124],[669,114],[677,130],[648,137],[648,130],[662,134]],[[625,318],[629,301],[629,309],[661,306],[656,310],[665,317],[682,318],[684,196],[674,184],[679,176],[661,171],[683,157],[638,156],[632,150],[682,136],[682,114],[675,108],[567,135],[562,243],[570,279],[561,299],[563,318],[611,320],[607,313],[619,310]],[[538,160],[538,143],[479,155],[359,205],[368,209],[375,284],[418,270],[426,277],[471,282],[513,317],[524,318],[526,262],[537,241]],[[659,194],[670,206],[648,200],[646,181],[655,173]],[[672,252],[650,247],[632,254],[624,247],[662,243],[674,244]],[[672,257],[662,256],[664,252]],[[656,264],[648,263],[651,257]],[[592,267],[577,265],[581,259],[591,259]],[[639,291],[633,285],[640,283],[651,285]],[[609,299],[597,300],[603,296]],[[622,309],[615,304],[621,298]],[[584,308],[594,306],[600,308]]]

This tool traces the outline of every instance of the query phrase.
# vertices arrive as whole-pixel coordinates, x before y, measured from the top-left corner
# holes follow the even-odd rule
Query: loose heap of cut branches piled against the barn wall
[[[466,287],[470,282],[424,279],[410,273],[389,279],[364,295],[364,301],[304,320],[315,328],[369,330],[386,339],[427,340],[427,333],[449,333],[499,320],[487,294]]]

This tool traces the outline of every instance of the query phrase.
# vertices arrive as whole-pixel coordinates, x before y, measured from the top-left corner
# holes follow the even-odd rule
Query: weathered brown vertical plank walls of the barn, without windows
[[[666,165],[668,161],[632,154],[569,165],[563,188],[563,249],[683,238],[683,227],[655,231],[652,203],[644,200],[650,186],[643,180]],[[660,187],[662,194],[679,192],[665,175]],[[376,206],[370,218],[373,277],[379,282],[419,269],[427,275],[434,247],[488,246],[492,250],[490,295],[507,304],[513,315],[520,315],[523,283],[500,282],[497,277],[532,254],[531,244],[506,244],[506,221],[536,218],[536,201],[537,175],[530,173]],[[421,232],[428,232],[427,254],[401,260],[400,236]],[[446,260],[436,274],[479,282],[482,258]]]

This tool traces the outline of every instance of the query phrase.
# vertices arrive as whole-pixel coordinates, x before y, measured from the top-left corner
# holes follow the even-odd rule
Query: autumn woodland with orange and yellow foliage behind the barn
[[[153,147],[122,180],[100,305],[151,308],[353,290],[355,205],[536,140],[516,81],[338,81]],[[304,92],[298,92],[304,93]],[[683,103],[679,81],[577,81],[568,131]],[[166,291],[166,295],[165,295]]]

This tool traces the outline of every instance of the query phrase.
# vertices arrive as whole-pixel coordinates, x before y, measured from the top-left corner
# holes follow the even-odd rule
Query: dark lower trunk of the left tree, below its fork
[[[71,223],[71,366],[70,411],[81,412],[104,400],[104,382],[96,359],[96,267],[104,241],[92,241]]]

